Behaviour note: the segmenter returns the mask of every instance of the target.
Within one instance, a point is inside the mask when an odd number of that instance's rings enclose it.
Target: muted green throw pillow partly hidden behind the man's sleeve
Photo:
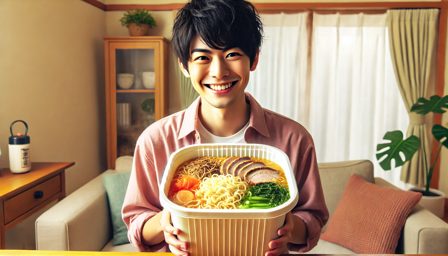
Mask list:
[[[113,226],[113,245],[129,243],[128,228],[121,218],[121,207],[125,202],[126,189],[128,188],[131,173],[105,174],[103,184],[109,199]]]

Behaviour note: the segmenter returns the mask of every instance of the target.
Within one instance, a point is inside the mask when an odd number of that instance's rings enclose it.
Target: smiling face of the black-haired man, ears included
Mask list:
[[[237,101],[246,89],[250,71],[258,63],[258,52],[251,68],[249,56],[240,48],[215,50],[197,35],[191,40],[190,54],[190,73],[181,65],[182,72],[191,78],[199,95],[215,108],[228,108]]]

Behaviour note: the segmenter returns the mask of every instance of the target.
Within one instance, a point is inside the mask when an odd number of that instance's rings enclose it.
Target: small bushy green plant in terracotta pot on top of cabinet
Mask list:
[[[130,36],[149,35],[149,29],[157,26],[154,17],[147,10],[135,9],[123,14],[120,19],[121,26],[129,28]]]

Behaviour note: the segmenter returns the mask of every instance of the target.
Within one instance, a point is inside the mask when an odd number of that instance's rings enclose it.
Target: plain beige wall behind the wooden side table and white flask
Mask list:
[[[0,24],[1,168],[9,125],[22,119],[32,161],[76,162],[66,170],[69,194],[107,166],[105,12],[81,0],[0,0]],[[38,216],[8,230],[6,247],[34,249]]]

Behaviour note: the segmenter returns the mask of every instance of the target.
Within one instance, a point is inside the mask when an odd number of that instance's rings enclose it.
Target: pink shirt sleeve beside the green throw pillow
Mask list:
[[[160,244],[157,247],[142,244],[143,225],[161,211],[155,205],[160,205],[155,166],[138,140],[121,216],[128,227],[129,242],[140,252],[160,249]]]

